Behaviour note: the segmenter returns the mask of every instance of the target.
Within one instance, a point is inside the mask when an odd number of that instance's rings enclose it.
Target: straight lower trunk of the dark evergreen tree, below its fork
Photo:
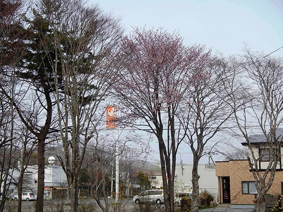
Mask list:
[[[43,139],[38,139],[38,173],[37,173],[37,200],[36,200],[36,212],[43,211],[43,196],[44,196],[44,151],[45,151],[45,144]]]

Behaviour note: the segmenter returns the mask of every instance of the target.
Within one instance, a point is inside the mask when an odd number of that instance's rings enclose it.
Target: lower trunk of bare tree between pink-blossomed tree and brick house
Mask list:
[[[192,184],[193,184],[193,192],[192,192],[192,203],[191,210],[192,212],[199,211],[199,174],[198,174],[198,162],[195,162],[193,165],[192,171]]]

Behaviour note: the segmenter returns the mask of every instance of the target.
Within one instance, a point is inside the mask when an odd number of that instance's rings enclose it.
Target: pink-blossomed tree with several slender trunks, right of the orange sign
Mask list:
[[[161,28],[134,28],[121,46],[125,60],[114,97],[125,107],[126,125],[158,139],[166,211],[174,210],[176,153],[183,139],[175,116],[190,83],[190,68],[202,59],[201,49],[185,47],[178,33]]]

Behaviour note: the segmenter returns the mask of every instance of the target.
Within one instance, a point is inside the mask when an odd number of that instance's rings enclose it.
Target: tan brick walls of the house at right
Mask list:
[[[242,194],[242,181],[255,181],[250,172],[249,162],[228,161],[216,162],[216,176],[218,177],[218,192],[222,197],[222,177],[230,177],[230,199],[231,204],[253,204],[254,194]],[[283,171],[277,171],[273,184],[267,194],[280,194],[281,182],[283,182]],[[221,198],[219,199],[221,202]]]

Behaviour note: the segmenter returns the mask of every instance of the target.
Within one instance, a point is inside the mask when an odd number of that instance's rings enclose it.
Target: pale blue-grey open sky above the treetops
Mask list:
[[[244,43],[256,51],[270,54],[283,46],[283,0],[91,0],[106,13],[121,18],[125,34],[132,27],[179,31],[187,46],[206,45],[224,56],[243,53]],[[273,55],[283,56],[283,48]],[[156,142],[155,142],[156,143]],[[240,142],[239,142],[240,143]],[[240,144],[241,145],[241,144]],[[159,158],[158,146],[148,159]],[[185,164],[192,164],[192,153],[182,145],[177,154]],[[214,161],[221,160],[215,158]],[[206,163],[204,157],[201,163]]]

